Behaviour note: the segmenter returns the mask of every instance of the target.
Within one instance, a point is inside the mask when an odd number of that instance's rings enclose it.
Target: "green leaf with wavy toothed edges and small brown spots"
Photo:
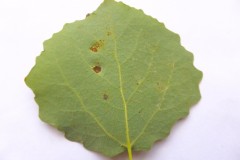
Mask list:
[[[200,99],[202,73],[177,34],[105,0],[44,43],[26,77],[40,118],[67,139],[115,156],[148,150]]]

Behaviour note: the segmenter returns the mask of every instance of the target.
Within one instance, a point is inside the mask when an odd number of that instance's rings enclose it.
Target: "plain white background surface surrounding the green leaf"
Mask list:
[[[38,118],[24,77],[42,42],[101,0],[0,1],[0,160],[109,160]],[[201,101],[135,160],[240,160],[240,1],[124,0],[179,33],[203,71]],[[126,154],[114,158],[125,160]]]

